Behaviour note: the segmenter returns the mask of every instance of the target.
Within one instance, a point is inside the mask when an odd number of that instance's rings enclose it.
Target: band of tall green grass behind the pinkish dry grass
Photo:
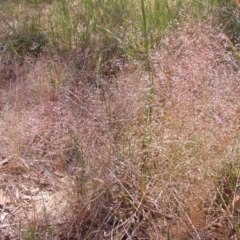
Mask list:
[[[90,50],[95,56],[90,66],[103,77],[114,77],[123,62],[145,57],[140,1],[16,1],[12,6],[13,19],[1,18],[3,48],[19,56],[54,49],[77,58],[76,50]],[[157,46],[165,29],[181,18],[181,9],[181,1],[146,4],[149,47]]]

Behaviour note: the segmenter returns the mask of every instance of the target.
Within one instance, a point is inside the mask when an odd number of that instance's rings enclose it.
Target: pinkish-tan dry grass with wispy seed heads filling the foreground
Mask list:
[[[152,53],[151,123],[142,66],[95,86],[59,56],[2,65],[1,235],[227,239],[216,181],[239,157],[240,76],[219,32],[186,24]]]

